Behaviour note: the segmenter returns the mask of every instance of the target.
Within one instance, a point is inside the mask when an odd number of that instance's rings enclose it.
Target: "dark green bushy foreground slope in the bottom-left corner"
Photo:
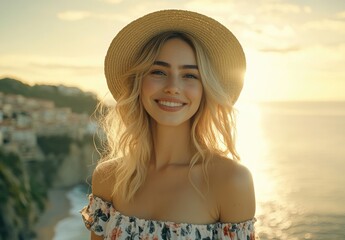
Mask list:
[[[34,233],[34,208],[46,195],[37,193],[19,157],[0,151],[0,239],[28,239]]]

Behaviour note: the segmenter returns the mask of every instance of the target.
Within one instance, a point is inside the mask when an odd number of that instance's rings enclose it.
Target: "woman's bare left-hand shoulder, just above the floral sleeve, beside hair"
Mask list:
[[[114,160],[101,162],[92,174],[92,194],[108,202],[112,200],[116,164]]]

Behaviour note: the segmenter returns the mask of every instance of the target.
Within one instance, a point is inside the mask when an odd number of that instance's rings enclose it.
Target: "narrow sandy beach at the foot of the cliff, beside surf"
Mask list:
[[[71,203],[67,197],[70,190],[70,188],[52,188],[48,190],[46,209],[34,228],[36,240],[53,239],[58,222],[70,216]]]

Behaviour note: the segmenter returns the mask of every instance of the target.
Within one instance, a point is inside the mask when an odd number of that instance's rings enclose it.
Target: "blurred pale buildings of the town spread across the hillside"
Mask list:
[[[0,92],[0,148],[23,160],[43,160],[38,136],[66,135],[82,139],[96,123],[87,114],[56,107],[54,102]]]

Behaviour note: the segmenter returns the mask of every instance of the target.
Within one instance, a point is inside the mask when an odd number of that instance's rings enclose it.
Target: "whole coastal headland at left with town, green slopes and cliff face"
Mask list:
[[[0,240],[34,239],[49,189],[90,182],[96,104],[76,88],[0,79]]]

